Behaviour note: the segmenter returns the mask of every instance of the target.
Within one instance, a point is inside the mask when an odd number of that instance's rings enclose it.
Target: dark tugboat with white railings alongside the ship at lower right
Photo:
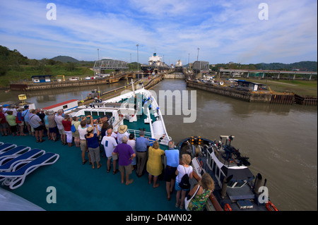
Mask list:
[[[204,173],[213,178],[213,195],[223,210],[278,211],[269,200],[266,179],[263,183],[261,174],[256,177],[252,174],[248,168],[249,158],[242,156],[231,145],[234,138],[232,135],[221,135],[218,142],[201,137],[185,138],[177,148],[180,154],[191,155],[195,178],[200,179]],[[218,210],[211,205],[207,202],[206,209]]]

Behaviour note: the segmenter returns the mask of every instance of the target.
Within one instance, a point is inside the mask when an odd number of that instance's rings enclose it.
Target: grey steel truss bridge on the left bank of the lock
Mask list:
[[[112,60],[112,59],[102,59],[95,61],[93,71],[96,74],[105,74],[106,70],[115,70],[117,73],[119,71],[128,70],[128,63],[120,60]]]

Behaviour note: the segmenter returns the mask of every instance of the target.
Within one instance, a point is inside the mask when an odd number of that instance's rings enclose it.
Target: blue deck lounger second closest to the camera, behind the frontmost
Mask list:
[[[34,149],[23,154],[20,154],[18,157],[11,159],[10,161],[6,162],[5,164],[0,166],[0,171],[11,171],[13,166],[15,166],[18,162],[30,162],[31,160],[35,159],[42,154],[45,154],[45,150]],[[1,176],[0,176],[1,181]]]

